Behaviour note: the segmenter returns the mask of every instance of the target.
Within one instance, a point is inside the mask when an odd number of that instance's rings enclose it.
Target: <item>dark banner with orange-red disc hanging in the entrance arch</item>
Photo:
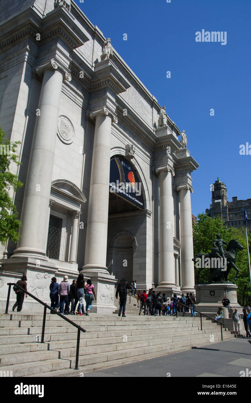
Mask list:
[[[114,157],[110,161],[110,192],[126,199],[140,208],[144,207],[141,182],[131,166],[122,157]]]

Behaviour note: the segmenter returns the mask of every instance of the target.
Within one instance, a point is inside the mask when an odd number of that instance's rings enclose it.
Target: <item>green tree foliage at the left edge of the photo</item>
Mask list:
[[[10,172],[10,164],[14,162],[20,165],[18,156],[15,154],[20,141],[11,142],[5,137],[0,126],[0,243],[4,245],[11,239],[17,242],[20,238],[18,233],[21,222],[17,219],[17,210],[10,197],[10,189],[15,192],[23,183],[17,175]]]

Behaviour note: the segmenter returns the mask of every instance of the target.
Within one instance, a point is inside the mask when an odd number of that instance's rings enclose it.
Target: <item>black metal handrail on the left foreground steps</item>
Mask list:
[[[5,309],[5,314],[8,314],[8,307],[9,307],[9,300],[10,300],[10,287],[12,285],[15,285],[16,287],[18,287],[19,289],[21,289],[21,291],[25,292],[25,294],[29,295],[31,298],[35,299],[35,301],[41,303],[41,305],[44,305],[44,316],[43,316],[43,324],[42,324],[42,334],[41,334],[41,343],[44,343],[44,331],[45,331],[45,322],[46,322],[46,309],[49,309],[50,311],[52,311],[54,314],[60,316],[60,318],[63,318],[64,320],[66,320],[66,322],[70,323],[71,325],[75,326],[78,329],[78,334],[77,334],[77,349],[76,349],[76,361],[75,361],[75,370],[78,370],[78,365],[79,365],[79,342],[80,342],[80,330],[82,332],[86,332],[86,330],[84,328],[82,328],[81,326],[77,325],[77,323],[73,322],[72,320],[66,318],[64,315],[60,314],[59,312],[57,312],[54,308],[50,307],[49,305],[47,305],[47,303],[41,301],[41,299],[35,297],[35,295],[32,295],[31,293],[29,293],[27,290],[25,290],[23,287],[21,287],[21,285],[16,284],[16,283],[7,283],[7,285],[9,286],[8,289],[8,295],[7,295],[7,301],[6,301],[6,309]]]

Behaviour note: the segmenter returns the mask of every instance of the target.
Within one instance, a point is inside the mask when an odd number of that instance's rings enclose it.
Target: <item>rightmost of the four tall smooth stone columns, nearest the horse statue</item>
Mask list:
[[[191,215],[192,188],[178,186],[180,191],[180,243],[181,243],[181,291],[194,291],[193,230]]]

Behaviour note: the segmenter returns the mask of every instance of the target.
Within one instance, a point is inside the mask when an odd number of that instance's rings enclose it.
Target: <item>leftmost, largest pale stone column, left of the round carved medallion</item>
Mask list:
[[[71,76],[55,60],[36,68],[43,75],[25,195],[21,213],[21,235],[13,258],[31,256],[47,260],[45,239],[48,233],[48,209],[56,146],[56,133],[63,77]]]

